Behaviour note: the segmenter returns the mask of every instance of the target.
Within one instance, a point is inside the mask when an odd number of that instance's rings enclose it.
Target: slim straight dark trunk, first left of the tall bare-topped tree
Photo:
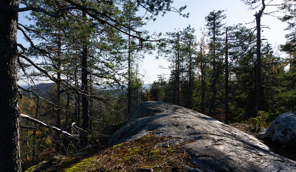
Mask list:
[[[226,27],[226,37],[225,37],[225,123],[228,124],[229,121],[229,71],[228,71],[228,37],[227,37],[228,28]]]

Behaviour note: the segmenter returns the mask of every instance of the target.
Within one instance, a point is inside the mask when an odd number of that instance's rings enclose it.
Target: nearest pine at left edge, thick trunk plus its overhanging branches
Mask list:
[[[0,154],[1,154],[1,163],[0,163],[0,169],[3,171],[21,171],[20,168],[20,149],[19,149],[19,128],[20,128],[20,116],[28,118],[26,115],[22,115],[18,112],[18,103],[17,103],[17,72],[16,72],[16,59],[17,57],[22,57],[25,59],[30,65],[33,65],[36,70],[41,71],[44,73],[46,77],[48,77],[53,82],[60,84],[61,86],[64,86],[67,90],[76,90],[78,92],[81,91],[81,89],[78,89],[77,87],[71,85],[71,83],[67,82],[65,79],[58,79],[55,76],[52,76],[48,71],[44,70],[43,68],[40,68],[38,66],[38,63],[34,63],[28,56],[26,56],[23,53],[19,53],[17,50],[17,46],[20,48],[23,48],[22,45],[16,43],[16,35],[17,35],[17,22],[18,22],[18,12],[24,12],[24,11],[34,11],[34,12],[41,12],[51,17],[62,17],[64,15],[69,14],[68,12],[82,12],[86,13],[88,16],[88,19],[92,21],[96,21],[96,24],[98,26],[101,26],[102,28],[108,28],[111,29],[111,32],[121,32],[123,34],[128,35],[127,32],[125,32],[122,28],[126,28],[124,24],[121,23],[120,17],[117,15],[114,16],[114,11],[105,8],[104,6],[114,6],[114,1],[110,1],[106,3],[105,1],[81,1],[81,2],[74,2],[74,1],[55,1],[56,4],[56,10],[52,11],[49,9],[49,11],[46,11],[47,9],[39,8],[39,6],[42,6],[41,4],[43,1],[33,1],[34,6],[27,6],[25,8],[19,8],[19,1],[16,0],[10,0],[10,1],[4,1],[0,4],[2,10],[0,12],[0,21],[2,24],[2,27],[0,29],[0,40],[1,40],[1,48],[0,48],[0,54],[3,59],[0,62],[1,70],[2,70],[2,81],[5,83],[1,85],[1,112],[0,115],[0,137],[1,137],[1,145],[0,145]],[[140,0],[136,1],[139,6],[142,6],[144,9],[147,9],[152,16],[158,15],[159,13],[166,13],[167,11],[175,11],[181,13],[183,9],[186,7],[181,7],[179,10],[177,9],[171,9],[170,5],[173,3],[170,0]],[[102,6],[101,6],[102,5]],[[101,8],[102,7],[102,8]],[[115,8],[118,11],[118,8]],[[70,15],[70,14],[69,14]],[[184,14],[184,16],[188,16]],[[73,17],[73,16],[72,16]],[[71,18],[72,18],[71,17]],[[116,31],[116,32],[113,32]],[[110,34],[106,33],[106,35]],[[111,34],[110,34],[111,35]],[[141,41],[148,41],[147,39],[144,39],[141,36],[135,36],[131,35],[132,37],[136,37],[140,39]],[[103,37],[102,37],[103,38]],[[114,38],[114,37],[113,37]],[[30,39],[27,40],[30,41]],[[70,42],[70,41],[69,41]],[[117,43],[115,43],[117,44]],[[115,45],[113,44],[113,45]],[[102,44],[101,44],[102,45]],[[110,44],[107,44],[110,45]],[[46,47],[36,47],[33,46],[34,49],[37,49],[38,51],[42,51],[44,53],[49,53],[46,49]],[[116,46],[115,46],[116,47]],[[115,50],[116,51],[116,50]],[[104,63],[107,68],[114,69],[112,66],[112,63]],[[55,68],[58,70],[57,68]],[[99,75],[97,75],[99,76]],[[102,77],[104,78],[104,77]],[[108,77],[107,77],[108,78]],[[112,78],[112,77],[110,77]],[[83,94],[86,94],[83,92]],[[90,96],[90,95],[88,95]],[[3,115],[4,114],[4,115]],[[57,128],[55,128],[58,130]],[[6,132],[6,133],[4,133]],[[65,133],[65,132],[64,132]],[[68,133],[69,134],[69,133]],[[3,137],[5,136],[5,138]],[[5,162],[5,163],[3,163]]]

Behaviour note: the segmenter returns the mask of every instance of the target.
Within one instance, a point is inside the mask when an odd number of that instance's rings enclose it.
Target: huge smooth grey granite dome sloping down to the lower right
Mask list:
[[[174,137],[159,146],[181,147],[197,166],[189,171],[296,171],[296,162],[272,153],[256,138],[201,113],[169,103],[148,101],[137,106],[109,144],[148,133]]]

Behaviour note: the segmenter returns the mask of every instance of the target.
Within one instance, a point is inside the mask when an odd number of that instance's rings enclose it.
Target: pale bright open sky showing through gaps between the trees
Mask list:
[[[276,0],[276,3],[281,2],[282,0]],[[227,18],[224,19],[224,22],[227,26],[242,23],[248,28],[255,27],[255,23],[250,22],[254,21],[255,12],[259,11],[259,9],[249,10],[248,6],[240,0],[175,0],[172,4],[172,6],[176,8],[184,5],[187,5],[187,8],[183,13],[190,13],[188,19],[175,12],[168,12],[164,17],[158,16],[155,22],[149,21],[143,29],[148,30],[150,35],[154,32],[162,32],[165,34],[166,32],[174,32],[175,29],[183,30],[183,28],[186,28],[190,24],[191,27],[195,28],[195,35],[197,40],[199,40],[201,36],[200,28],[205,27],[206,24],[205,17],[213,10],[226,10],[224,14],[226,14]],[[266,6],[264,12],[271,12],[275,9],[276,8],[273,6]],[[27,14],[28,12],[22,12],[19,14],[20,23],[27,22],[24,18]],[[143,15],[143,11],[140,10],[138,15]],[[284,31],[284,29],[287,27],[287,24],[279,21],[277,17],[265,15],[261,18],[261,24],[270,27],[270,29],[264,29],[261,36],[264,36],[264,38],[267,39],[273,46],[277,47],[286,41],[284,35],[286,35],[288,31]],[[20,32],[18,32],[18,35],[20,36],[18,36],[17,41],[23,44],[25,42],[22,39],[23,35]],[[159,65],[162,65],[167,68],[170,63],[162,58],[156,60],[155,55],[156,53],[153,55],[145,55],[144,60],[139,64],[140,73],[145,73],[145,77],[143,78],[144,83],[152,83],[157,80],[157,75],[159,74],[168,78],[168,74],[170,73],[169,70],[159,67]]]

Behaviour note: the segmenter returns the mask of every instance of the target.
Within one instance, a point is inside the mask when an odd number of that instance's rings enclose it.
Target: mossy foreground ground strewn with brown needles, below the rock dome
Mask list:
[[[54,157],[49,154],[50,160],[44,160],[38,165],[28,168],[26,172],[123,172],[149,169],[158,172],[185,172],[184,165],[198,168],[190,163],[191,158],[187,153],[179,150],[182,145],[188,142],[170,148],[157,147],[157,143],[167,139],[146,135],[109,148],[87,150],[89,151],[87,154]]]

